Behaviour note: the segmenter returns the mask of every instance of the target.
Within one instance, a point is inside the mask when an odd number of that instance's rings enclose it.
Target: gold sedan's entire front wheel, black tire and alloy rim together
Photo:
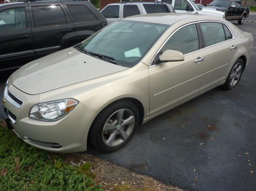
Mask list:
[[[119,116],[123,116],[122,120]],[[124,100],[113,103],[95,118],[89,132],[89,140],[101,152],[116,151],[130,140],[138,123],[139,112],[133,102]]]

